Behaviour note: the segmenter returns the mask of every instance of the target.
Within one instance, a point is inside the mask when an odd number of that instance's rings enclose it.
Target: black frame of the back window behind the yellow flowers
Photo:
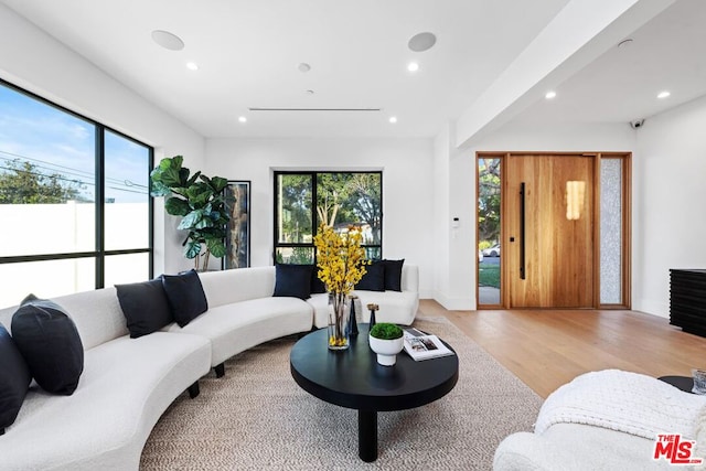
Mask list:
[[[383,217],[383,171],[382,170],[275,170],[274,179],[272,179],[272,263],[277,263],[277,250],[279,248],[296,248],[296,247],[306,247],[311,248],[313,250],[313,264],[317,264],[317,251],[313,244],[313,240],[308,243],[280,243],[279,242],[279,227],[277,225],[277,195],[278,193],[278,181],[280,175],[310,175],[311,176],[311,224],[312,224],[312,235],[317,234],[317,228],[319,227],[319,215],[315,210],[317,205],[317,196],[318,196],[318,175],[324,173],[367,173],[367,174],[378,174],[379,175],[379,245],[374,244],[362,244],[361,246],[366,249],[368,248],[378,248],[379,249],[379,259],[383,259],[383,228],[384,228],[384,217]]]

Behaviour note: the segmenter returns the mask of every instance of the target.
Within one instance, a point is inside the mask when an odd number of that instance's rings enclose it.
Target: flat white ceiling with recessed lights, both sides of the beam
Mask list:
[[[204,137],[434,137],[581,0],[0,1]],[[516,119],[627,122],[702,96],[705,26],[706,1],[677,0],[625,35],[629,47],[611,46]],[[153,30],[185,47],[157,45]],[[424,31],[437,44],[411,52],[407,41]],[[662,89],[672,96],[657,100]]]

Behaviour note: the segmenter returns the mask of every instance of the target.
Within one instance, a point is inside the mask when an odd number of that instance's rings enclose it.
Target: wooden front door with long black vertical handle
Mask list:
[[[513,154],[504,172],[505,304],[593,307],[593,158]]]

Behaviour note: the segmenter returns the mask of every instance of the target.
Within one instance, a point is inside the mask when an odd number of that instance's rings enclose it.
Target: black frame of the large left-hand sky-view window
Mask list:
[[[0,86],[7,87],[13,92],[22,94],[30,99],[38,100],[39,103],[50,106],[58,111],[65,113],[67,115],[73,116],[76,119],[81,119],[92,126],[95,127],[95,188],[96,188],[96,197],[95,197],[95,249],[94,250],[85,250],[85,251],[65,251],[65,253],[46,253],[46,254],[34,254],[34,255],[18,255],[18,256],[0,256],[0,264],[17,264],[17,263],[28,263],[28,261],[50,261],[50,260],[66,260],[66,259],[78,259],[78,258],[95,258],[95,288],[105,288],[105,260],[106,257],[115,256],[115,255],[128,255],[128,254],[148,254],[149,255],[149,274],[148,277],[151,279],[154,276],[154,199],[149,195],[148,196],[148,246],[147,247],[136,247],[136,248],[126,248],[126,249],[110,249],[106,250],[105,248],[105,133],[107,131],[127,139],[131,142],[135,142],[138,146],[145,147],[148,150],[148,162],[147,168],[151,171],[154,168],[154,148],[152,146],[148,146],[145,142],[141,142],[130,136],[125,135],[124,132],[118,131],[117,129],[110,128],[108,126],[103,125],[94,119],[90,119],[86,116],[83,116],[76,111],[73,111],[64,106],[57,105],[56,103],[51,101],[47,98],[44,98],[38,94],[29,92],[18,85],[14,85],[10,82],[7,82],[0,78]],[[151,194],[151,180],[148,179],[149,189],[148,192]]]

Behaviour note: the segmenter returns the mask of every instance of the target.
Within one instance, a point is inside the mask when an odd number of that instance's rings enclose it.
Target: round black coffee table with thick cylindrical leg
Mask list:
[[[359,329],[351,346],[339,352],[328,350],[327,329],[314,331],[295,344],[289,363],[302,389],[357,410],[359,456],[371,462],[377,459],[377,413],[410,409],[445,396],[456,386],[459,361],[452,355],[415,362],[402,352],[395,366],[381,366],[367,342],[368,325]]]

